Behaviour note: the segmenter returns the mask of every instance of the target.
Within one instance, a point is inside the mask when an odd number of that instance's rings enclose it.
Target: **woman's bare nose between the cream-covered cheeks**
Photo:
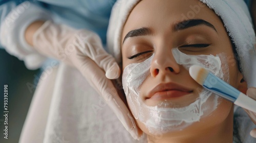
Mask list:
[[[172,50],[170,50],[169,52],[156,52],[151,63],[150,72],[153,77],[169,73],[180,73],[179,64],[177,64],[177,62],[175,61]]]

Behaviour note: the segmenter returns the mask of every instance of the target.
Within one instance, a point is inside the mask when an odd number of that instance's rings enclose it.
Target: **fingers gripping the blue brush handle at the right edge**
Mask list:
[[[248,88],[246,94],[247,94],[248,97],[256,100],[256,88],[254,88],[254,87]],[[256,125],[256,113],[252,112],[252,111],[249,111],[249,110],[246,110],[246,109],[244,109],[244,110],[250,116],[252,122]],[[250,135],[252,137],[256,138],[256,128],[251,130]]]

